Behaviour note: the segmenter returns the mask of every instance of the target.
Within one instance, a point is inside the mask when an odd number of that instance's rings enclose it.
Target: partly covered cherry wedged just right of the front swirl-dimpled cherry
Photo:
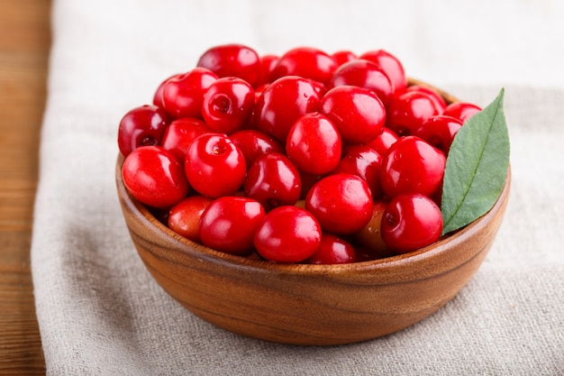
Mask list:
[[[250,167],[260,155],[268,152],[284,152],[284,146],[273,136],[256,131],[254,129],[243,129],[229,135],[232,142],[241,149],[247,168]]]

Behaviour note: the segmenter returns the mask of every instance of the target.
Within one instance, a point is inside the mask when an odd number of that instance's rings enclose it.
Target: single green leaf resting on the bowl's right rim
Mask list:
[[[459,129],[444,171],[442,234],[483,216],[496,203],[509,168],[509,134],[502,88],[496,99]]]

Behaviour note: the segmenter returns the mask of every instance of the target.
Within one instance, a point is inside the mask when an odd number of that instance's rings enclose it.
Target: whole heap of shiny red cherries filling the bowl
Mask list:
[[[374,260],[440,238],[450,143],[478,111],[408,85],[386,50],[221,45],[123,116],[122,177],[170,229],[220,252]]]

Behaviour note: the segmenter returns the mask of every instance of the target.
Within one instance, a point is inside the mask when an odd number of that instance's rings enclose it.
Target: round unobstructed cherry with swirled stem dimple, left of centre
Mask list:
[[[206,197],[231,196],[245,179],[247,166],[239,148],[223,134],[205,133],[186,151],[186,178]]]

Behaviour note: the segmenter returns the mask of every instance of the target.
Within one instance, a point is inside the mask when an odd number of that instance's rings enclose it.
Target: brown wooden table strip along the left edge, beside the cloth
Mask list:
[[[0,0],[0,374],[45,374],[30,244],[50,0]]]

